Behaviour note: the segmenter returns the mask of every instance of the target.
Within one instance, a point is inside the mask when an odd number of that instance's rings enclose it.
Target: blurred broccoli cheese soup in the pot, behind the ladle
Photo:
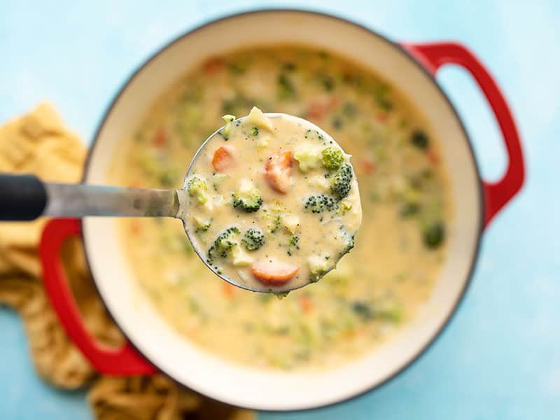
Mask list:
[[[218,279],[181,221],[131,218],[118,222],[130,269],[161,316],[211,353],[280,370],[348,363],[414,319],[435,286],[453,216],[439,139],[405,97],[358,64],[295,46],[252,48],[209,59],[164,92],[123,139],[113,183],[181,188],[222,116],[253,106],[309,120],[352,155],[363,213],[353,250],[279,300]],[[290,227],[278,229],[287,253]]]

